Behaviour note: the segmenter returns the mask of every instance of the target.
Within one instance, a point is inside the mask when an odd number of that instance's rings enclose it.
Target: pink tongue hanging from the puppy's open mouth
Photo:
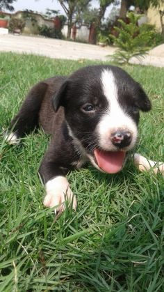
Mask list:
[[[94,154],[99,167],[108,174],[115,174],[122,169],[126,153],[122,151],[102,151],[95,149]]]

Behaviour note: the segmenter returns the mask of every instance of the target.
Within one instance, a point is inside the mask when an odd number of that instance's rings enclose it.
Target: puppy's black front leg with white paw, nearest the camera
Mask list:
[[[56,135],[39,169],[46,190],[44,206],[56,207],[56,211],[60,212],[65,210],[65,201],[67,201],[68,205],[76,210],[76,197],[65,176],[74,168],[72,164],[77,160],[79,160],[79,155],[75,153],[72,144],[61,135]]]

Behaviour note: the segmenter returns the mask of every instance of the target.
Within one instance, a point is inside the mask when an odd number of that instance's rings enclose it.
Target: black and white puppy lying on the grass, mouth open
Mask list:
[[[142,87],[124,70],[88,66],[33,86],[6,139],[15,144],[39,125],[51,134],[39,170],[46,188],[44,205],[64,210],[68,199],[75,209],[76,197],[65,175],[88,161],[108,174],[120,171],[137,141],[139,110],[150,109]],[[138,154],[134,160],[140,170],[156,164]]]

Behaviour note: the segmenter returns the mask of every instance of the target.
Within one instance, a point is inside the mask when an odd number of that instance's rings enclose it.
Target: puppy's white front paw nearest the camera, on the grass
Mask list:
[[[64,176],[56,176],[46,183],[46,197],[44,198],[44,206],[53,208],[56,206],[56,212],[65,210],[65,201],[68,201],[69,206],[76,210],[76,197],[69,187],[67,178]]]

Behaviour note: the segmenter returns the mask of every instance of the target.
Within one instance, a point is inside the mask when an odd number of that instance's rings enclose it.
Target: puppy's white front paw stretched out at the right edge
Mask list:
[[[135,153],[133,155],[133,162],[140,171],[149,171],[152,169],[154,174],[161,172],[164,176],[164,163],[148,160],[144,156]]]

